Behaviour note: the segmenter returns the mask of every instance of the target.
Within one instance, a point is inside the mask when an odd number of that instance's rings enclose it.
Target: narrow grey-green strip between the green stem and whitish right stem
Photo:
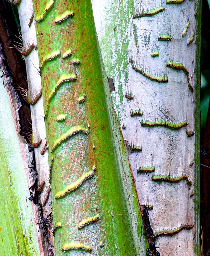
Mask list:
[[[139,207],[139,198],[137,197],[135,182],[133,182],[133,174],[131,171],[130,162],[128,160],[128,152],[125,149],[122,134],[119,130],[119,123],[114,113],[114,106],[110,94],[108,80],[106,79],[106,72],[103,66],[103,61],[100,53],[100,60],[102,63],[102,73],[104,80],[104,90],[106,95],[106,103],[109,114],[110,127],[112,130],[112,139],[115,145],[115,159],[120,172],[118,173],[121,181],[120,188],[124,189],[121,193],[125,194],[125,207],[128,208],[131,227],[133,231],[133,240],[136,245],[137,255],[145,255],[148,248],[148,239],[144,236],[144,227],[142,225],[142,215]],[[132,196],[131,196],[132,195]],[[127,206],[126,206],[127,204]]]

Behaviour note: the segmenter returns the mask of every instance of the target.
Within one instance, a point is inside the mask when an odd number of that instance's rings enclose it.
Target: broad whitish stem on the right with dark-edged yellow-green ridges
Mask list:
[[[150,209],[158,251],[199,255],[201,12],[198,1],[177,2],[92,1],[138,197]]]

